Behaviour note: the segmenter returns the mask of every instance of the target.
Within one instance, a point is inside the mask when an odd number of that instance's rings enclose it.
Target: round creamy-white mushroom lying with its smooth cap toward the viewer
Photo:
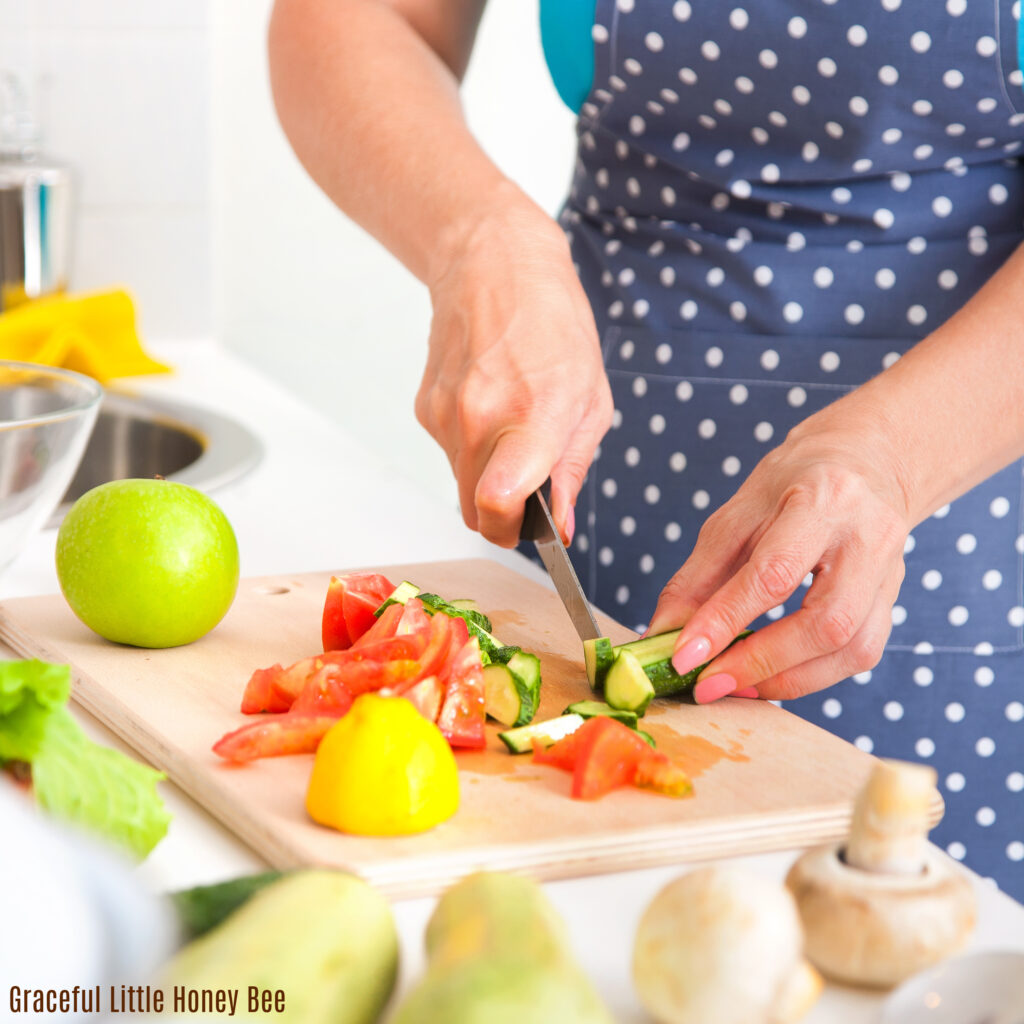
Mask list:
[[[788,1024],[821,992],[791,895],[731,866],[690,871],[637,928],[633,979],[660,1024]]]

